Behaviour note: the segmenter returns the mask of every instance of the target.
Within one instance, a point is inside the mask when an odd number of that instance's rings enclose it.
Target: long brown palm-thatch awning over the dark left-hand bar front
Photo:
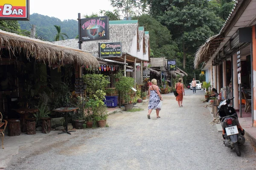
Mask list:
[[[13,54],[24,51],[27,59],[35,57],[36,60],[48,63],[49,66],[55,63],[61,65],[78,63],[97,68],[99,65],[96,57],[85,51],[0,30],[0,50],[3,47]]]

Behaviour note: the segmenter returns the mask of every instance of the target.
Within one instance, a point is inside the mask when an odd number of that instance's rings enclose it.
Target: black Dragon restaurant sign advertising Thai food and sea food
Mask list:
[[[99,57],[122,57],[121,42],[99,43]]]

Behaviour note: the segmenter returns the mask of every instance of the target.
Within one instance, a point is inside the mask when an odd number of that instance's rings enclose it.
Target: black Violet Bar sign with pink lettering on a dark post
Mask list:
[[[81,41],[109,40],[108,17],[84,18],[81,25]]]

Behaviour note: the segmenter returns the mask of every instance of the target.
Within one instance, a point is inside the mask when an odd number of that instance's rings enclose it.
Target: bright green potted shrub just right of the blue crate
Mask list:
[[[118,82],[116,82],[116,89],[120,93],[120,97],[125,100],[125,110],[130,109],[133,105],[129,105],[131,102],[131,88],[134,86],[134,79],[131,77],[121,77]]]

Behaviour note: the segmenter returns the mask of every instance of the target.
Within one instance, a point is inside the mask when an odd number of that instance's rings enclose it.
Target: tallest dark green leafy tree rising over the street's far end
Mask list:
[[[151,1],[152,4],[159,2]],[[152,4],[151,14],[167,26],[180,51],[183,52],[183,68],[186,68],[186,54],[194,54],[196,49],[207,38],[217,34],[222,26],[221,18],[213,11],[209,11],[207,0],[164,0],[159,5],[158,13],[157,6]]]

